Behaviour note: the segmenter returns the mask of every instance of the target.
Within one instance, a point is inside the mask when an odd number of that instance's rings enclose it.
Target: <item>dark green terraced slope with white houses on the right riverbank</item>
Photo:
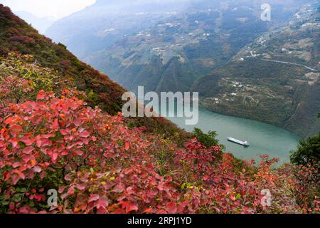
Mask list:
[[[319,82],[309,85],[302,79],[306,74],[296,66],[250,59],[202,78],[193,90],[207,89],[201,94],[201,105],[208,110],[270,123],[306,138],[320,130],[320,86]]]

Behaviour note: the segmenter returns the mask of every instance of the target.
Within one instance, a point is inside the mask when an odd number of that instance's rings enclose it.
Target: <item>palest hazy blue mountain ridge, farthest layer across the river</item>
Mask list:
[[[184,7],[175,1],[98,0],[55,22],[46,36],[64,43],[79,58],[108,48],[126,34],[148,28]]]

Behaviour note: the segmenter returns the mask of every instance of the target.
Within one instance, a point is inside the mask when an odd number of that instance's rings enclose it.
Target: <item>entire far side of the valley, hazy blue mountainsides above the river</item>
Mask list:
[[[261,3],[128,9],[127,1],[109,8],[98,1],[47,33],[128,90],[199,92],[208,110],[306,138],[320,129],[319,4],[272,1],[272,20],[262,21]],[[78,33],[70,30],[74,23]]]

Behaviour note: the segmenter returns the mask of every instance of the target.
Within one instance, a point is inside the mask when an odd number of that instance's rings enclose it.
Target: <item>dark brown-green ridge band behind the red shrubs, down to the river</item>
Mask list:
[[[11,51],[31,54],[35,63],[55,69],[68,79],[69,86],[85,92],[86,101],[92,107],[98,105],[111,115],[122,110],[124,88],[79,61],[63,44],[55,44],[49,38],[39,35],[34,28],[1,4],[0,28],[0,56],[6,56]],[[183,138],[187,135],[164,118],[136,118],[128,121],[131,125],[144,125],[151,131],[168,136],[179,133]]]

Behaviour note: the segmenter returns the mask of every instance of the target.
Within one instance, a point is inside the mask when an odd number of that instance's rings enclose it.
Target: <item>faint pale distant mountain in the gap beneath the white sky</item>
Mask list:
[[[28,24],[31,24],[31,26],[36,28],[41,34],[44,34],[47,28],[49,28],[55,21],[55,19],[52,18],[34,16],[26,11],[16,11],[14,14],[19,16]]]

